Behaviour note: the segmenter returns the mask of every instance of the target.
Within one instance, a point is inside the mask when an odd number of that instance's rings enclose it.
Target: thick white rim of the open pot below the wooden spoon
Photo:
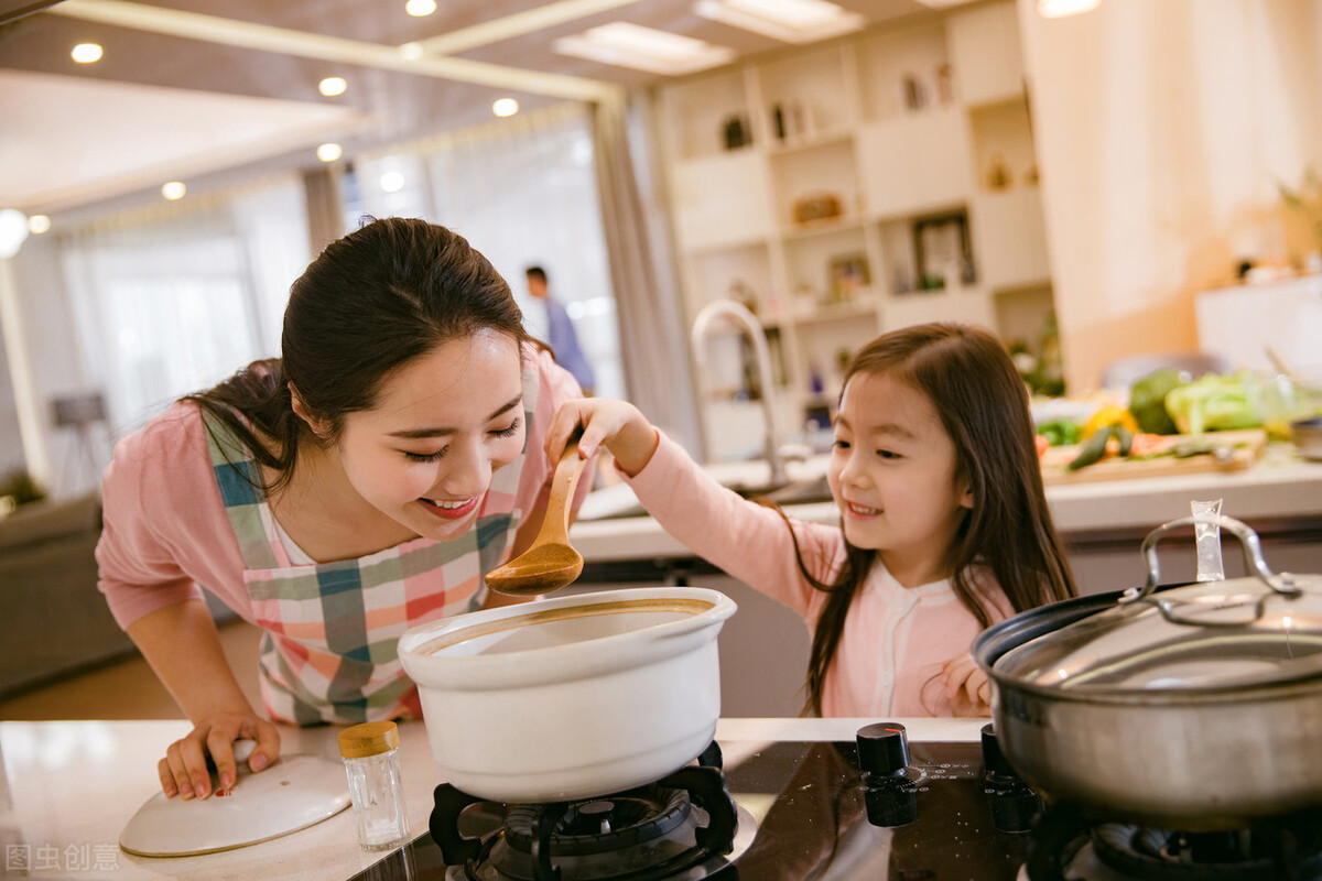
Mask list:
[[[596,605],[620,606],[636,602],[642,606],[639,612],[648,612],[649,609],[645,606],[660,600],[698,602],[707,608],[690,612],[673,621],[568,645],[476,655],[427,654],[423,651],[426,646],[444,639],[447,634],[471,627],[483,629],[481,633],[469,637],[477,638],[500,630],[498,625],[502,621],[542,616],[557,609]],[[484,609],[419,625],[399,638],[398,654],[405,671],[420,688],[469,691],[493,687],[525,687],[550,682],[563,683],[656,663],[662,658],[695,647],[695,639],[715,639],[720,625],[735,613],[735,609],[734,600],[709,588],[658,586],[599,590],[538,600],[531,604]],[[665,609],[654,610],[664,612]],[[683,609],[678,610],[683,612]],[[629,612],[623,613],[629,614]],[[488,630],[484,625],[493,625],[496,629]]]

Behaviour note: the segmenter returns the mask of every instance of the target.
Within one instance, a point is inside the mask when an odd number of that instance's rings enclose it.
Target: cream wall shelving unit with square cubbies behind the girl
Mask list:
[[[1013,1],[698,75],[660,108],[686,316],[722,297],[759,316],[783,431],[884,330],[944,318],[1038,342],[1051,269]],[[806,219],[814,199],[830,207]],[[756,454],[742,343],[707,346],[709,458]]]

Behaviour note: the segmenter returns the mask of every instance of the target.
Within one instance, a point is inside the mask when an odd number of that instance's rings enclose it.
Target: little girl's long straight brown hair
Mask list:
[[[973,564],[992,571],[1015,612],[1075,596],[1069,563],[1042,489],[1029,392],[1005,346],[986,330],[968,325],[914,325],[861,349],[845,371],[841,398],[857,374],[886,374],[927,395],[954,441],[956,479],[970,487],[973,509],[945,563],[956,596],[978,623],[989,626],[992,614],[973,582]],[[846,540],[845,564],[826,582],[808,571],[797,536],[795,548],[804,577],[828,593],[808,660],[806,709],[821,715],[845,616],[876,551]]]

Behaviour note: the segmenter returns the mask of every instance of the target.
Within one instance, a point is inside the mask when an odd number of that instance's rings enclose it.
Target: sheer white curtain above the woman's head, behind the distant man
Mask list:
[[[358,207],[375,217],[427,217],[467,238],[509,283],[525,326],[545,339],[545,306],[524,271],[546,269],[574,322],[595,391],[624,398],[615,291],[586,107],[561,104],[360,159]],[[354,199],[345,202],[353,207]]]

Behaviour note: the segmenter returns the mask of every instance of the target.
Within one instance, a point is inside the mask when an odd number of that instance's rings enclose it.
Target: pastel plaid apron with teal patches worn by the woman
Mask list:
[[[537,371],[524,371],[524,419],[537,409]],[[514,507],[524,452],[492,478],[477,524],[449,542],[418,538],[357,560],[290,561],[260,466],[223,424],[206,419],[215,482],[243,553],[253,623],[262,627],[262,699],[299,725],[420,719],[418,689],[395,651],[401,634],[471,612],[483,575],[505,561],[524,511]]]

